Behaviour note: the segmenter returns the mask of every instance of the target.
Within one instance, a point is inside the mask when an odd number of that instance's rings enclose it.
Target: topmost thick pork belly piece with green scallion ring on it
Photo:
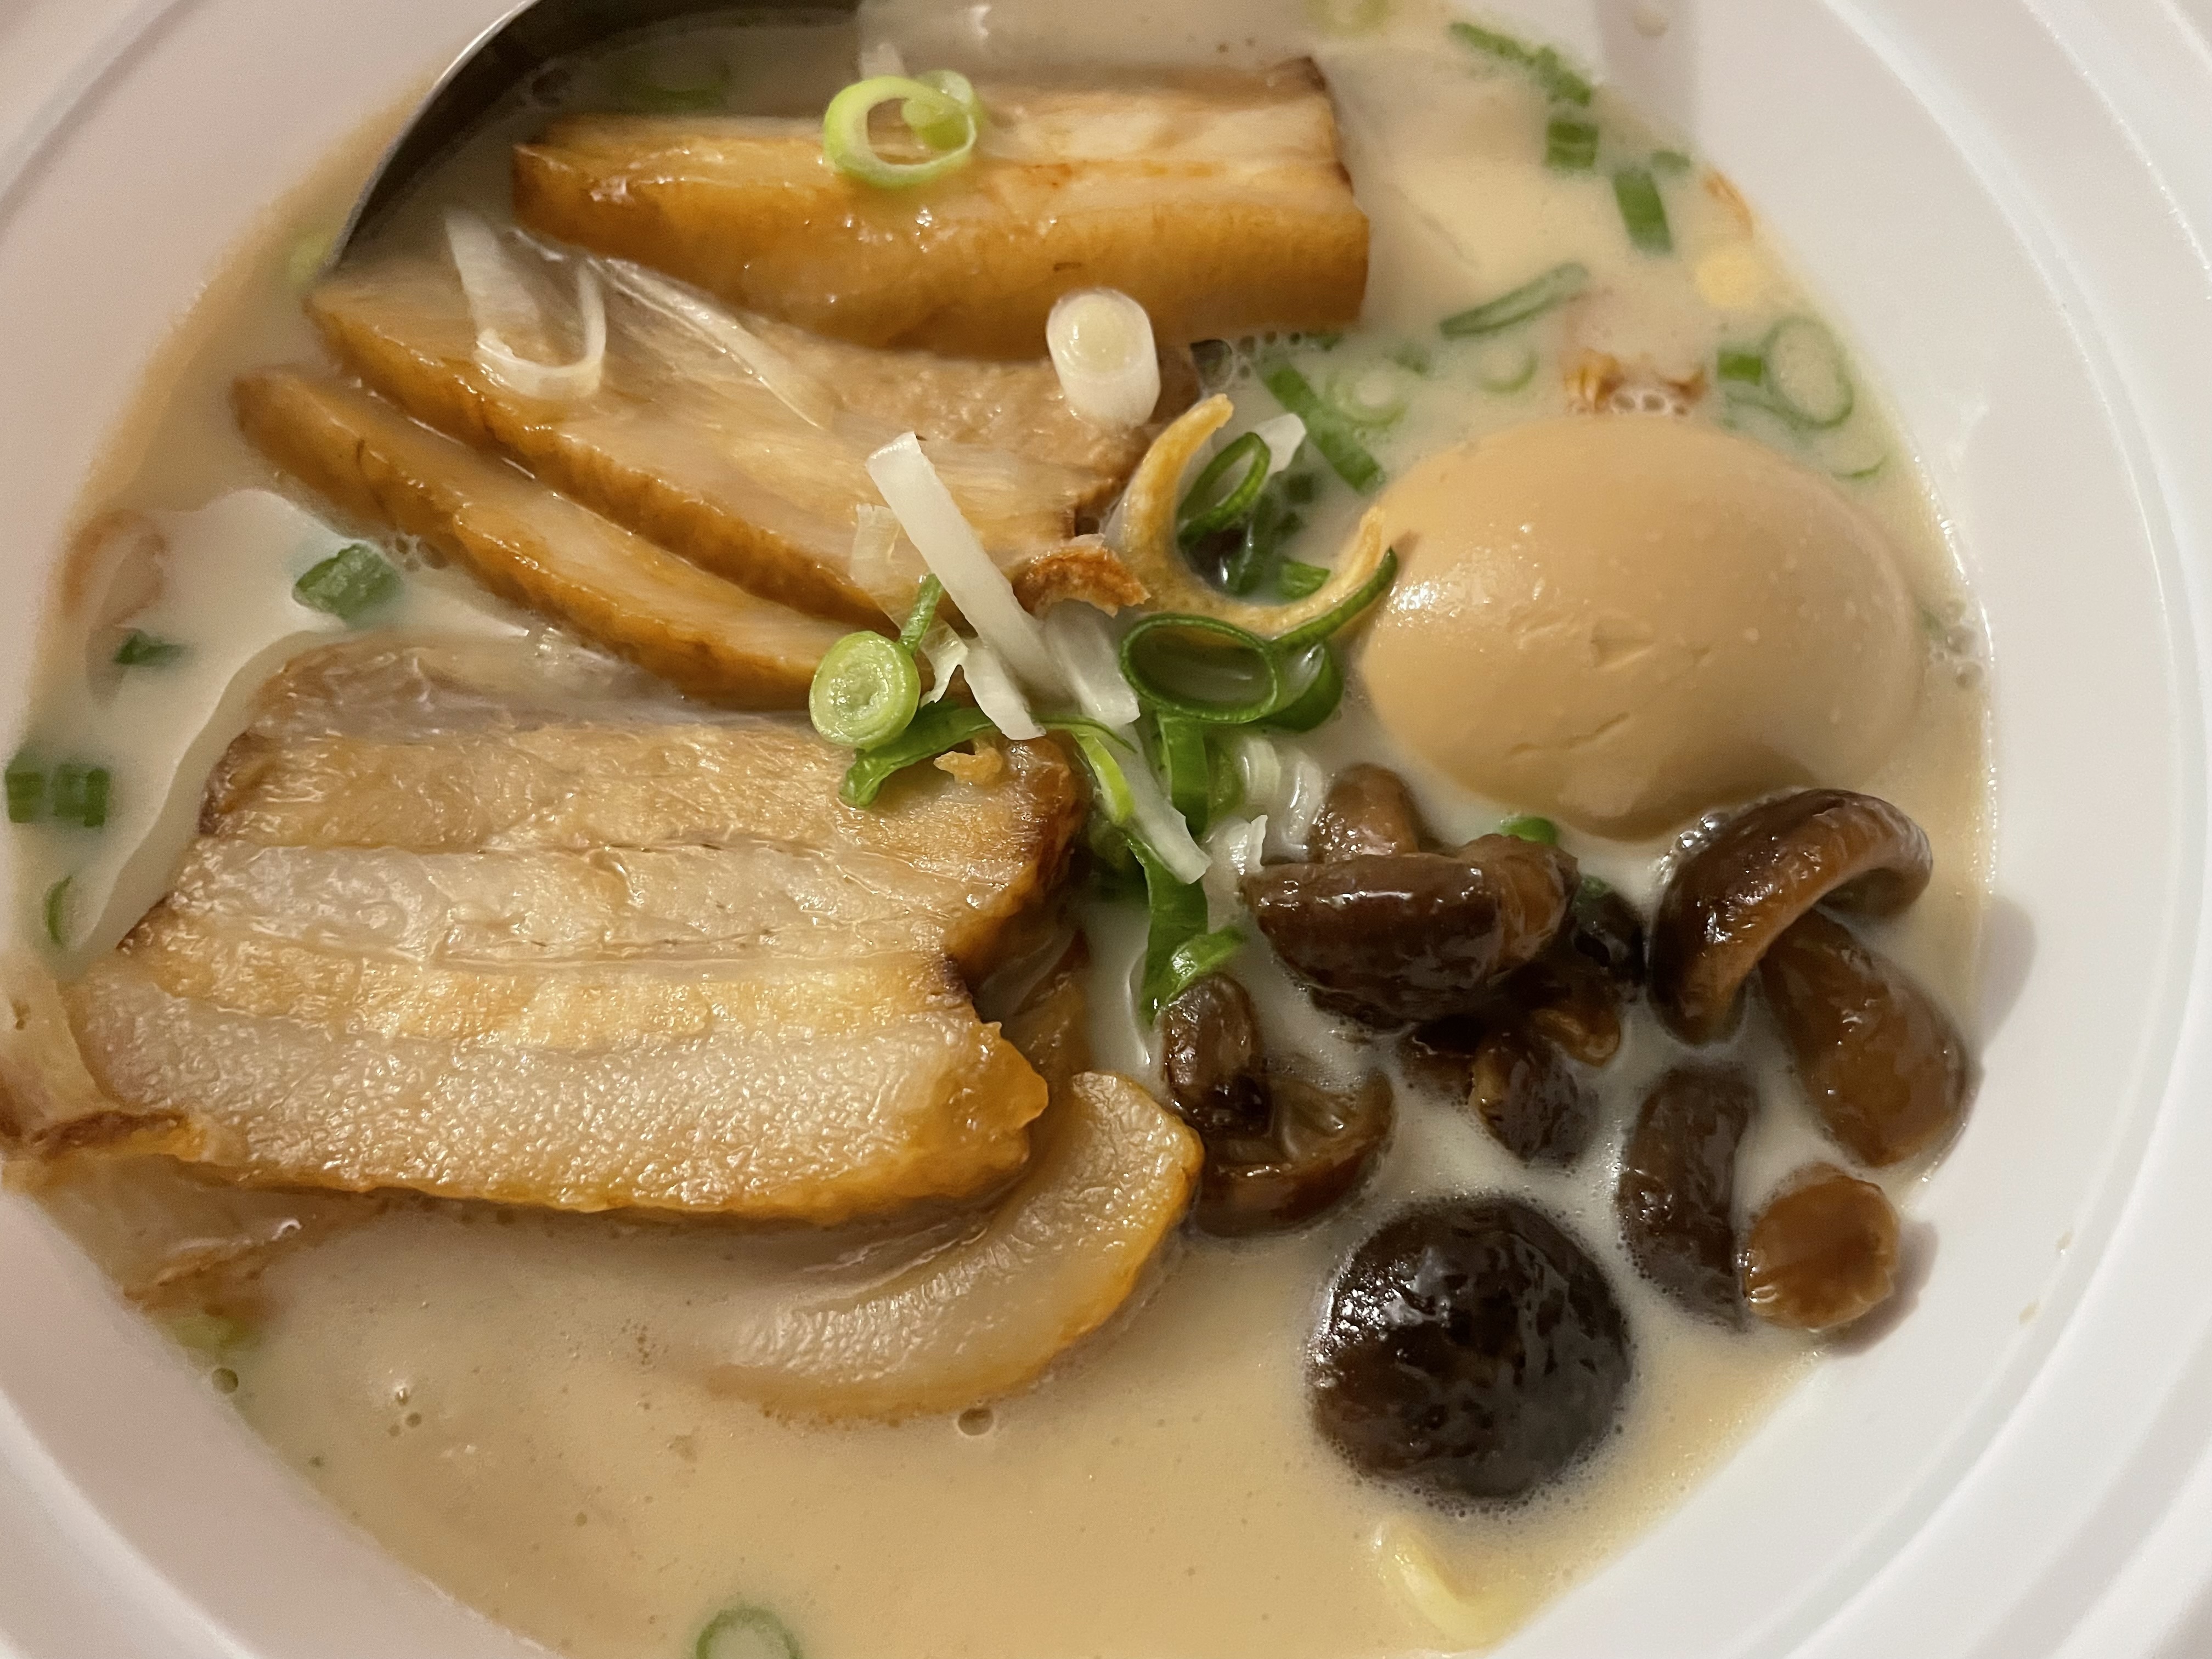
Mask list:
[[[515,217],[860,345],[1031,358],[1077,288],[1170,345],[1358,316],[1367,219],[1310,62],[978,91],[975,159],[918,190],[832,168],[818,122],[566,117],[515,150]]]

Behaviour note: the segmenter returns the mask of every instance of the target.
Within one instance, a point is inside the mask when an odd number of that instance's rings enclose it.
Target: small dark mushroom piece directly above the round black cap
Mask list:
[[[1467,1102],[1522,1164],[1573,1164],[1597,1133],[1595,1095],[1531,1020],[1433,1020],[1398,1053],[1409,1079]]]

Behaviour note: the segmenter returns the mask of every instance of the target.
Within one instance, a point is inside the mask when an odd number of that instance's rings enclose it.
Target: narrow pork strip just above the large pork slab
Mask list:
[[[248,374],[237,411],[270,460],[343,511],[420,535],[495,593],[699,697],[801,708],[841,637],[338,380]]]

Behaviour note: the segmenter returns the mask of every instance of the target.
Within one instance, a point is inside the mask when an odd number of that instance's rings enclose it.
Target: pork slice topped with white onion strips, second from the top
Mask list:
[[[1044,361],[872,352],[743,319],[812,394],[794,407],[635,285],[606,281],[604,292],[602,385],[564,403],[522,396],[478,365],[449,259],[347,270],[314,292],[310,314],[338,361],[416,420],[504,449],[714,575],[847,622],[883,617],[883,593],[852,568],[854,524],[858,507],[883,504],[867,456],[898,434],[925,438],[1006,568],[1053,553],[1077,515],[1104,511],[1148,436],[1079,420]],[[920,571],[911,551],[905,562]]]

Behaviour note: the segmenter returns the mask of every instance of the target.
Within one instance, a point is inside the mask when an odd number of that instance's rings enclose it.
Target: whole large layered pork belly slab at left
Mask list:
[[[296,666],[173,896],[60,993],[11,982],[9,1150],[814,1223],[1015,1175],[1046,1084],[956,958],[987,967],[1057,880],[1060,754],[858,812],[799,723],[584,723],[507,695],[518,659]]]

